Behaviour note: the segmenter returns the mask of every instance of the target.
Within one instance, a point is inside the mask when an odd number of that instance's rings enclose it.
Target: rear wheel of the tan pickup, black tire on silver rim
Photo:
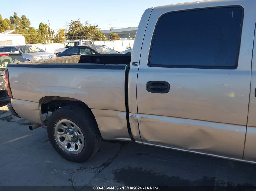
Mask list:
[[[65,123],[62,123],[63,121]],[[69,123],[70,121],[72,123]],[[67,127],[65,127],[64,124]],[[69,129],[71,129],[69,128],[70,125],[73,125],[71,128],[77,133],[78,138],[76,142],[72,142],[74,140],[69,140],[71,136],[67,136],[70,132]],[[58,129],[58,127],[60,128]],[[62,129],[64,130],[63,136],[59,135],[59,133],[63,133]],[[72,135],[75,134],[74,131],[71,131],[73,133]],[[99,150],[102,141],[97,122],[91,113],[91,110],[75,105],[64,106],[53,112],[48,120],[47,132],[55,151],[57,151],[63,158],[73,162],[87,161]],[[81,135],[81,139],[84,138],[83,141],[79,139]],[[61,138],[57,138],[58,136],[62,136],[62,140],[64,137],[63,143],[61,143]],[[79,147],[77,144],[78,141],[79,145],[80,143],[83,143],[83,145]],[[71,144],[70,148],[68,148],[67,145],[69,143]],[[78,148],[76,151],[75,146]],[[72,150],[72,148],[74,149]]]

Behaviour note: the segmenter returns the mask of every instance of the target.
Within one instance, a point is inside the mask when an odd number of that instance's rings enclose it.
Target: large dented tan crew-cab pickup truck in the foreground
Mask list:
[[[88,160],[103,138],[256,163],[255,9],[254,0],[149,8],[132,54],[8,64],[9,110],[31,129],[47,125],[70,161]]]

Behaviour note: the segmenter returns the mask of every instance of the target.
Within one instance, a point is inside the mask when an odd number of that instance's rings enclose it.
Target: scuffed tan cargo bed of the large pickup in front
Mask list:
[[[91,108],[104,139],[131,140],[125,93],[131,55],[67,57],[8,64],[14,110],[42,124],[45,100],[79,100]]]

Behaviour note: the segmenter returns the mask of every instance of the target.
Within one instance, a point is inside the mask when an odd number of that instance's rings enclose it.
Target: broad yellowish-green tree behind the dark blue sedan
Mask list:
[[[89,39],[101,40],[104,34],[98,28],[98,25],[91,25],[88,21],[82,24],[80,20],[73,21],[68,24],[68,31],[66,33],[69,39]]]

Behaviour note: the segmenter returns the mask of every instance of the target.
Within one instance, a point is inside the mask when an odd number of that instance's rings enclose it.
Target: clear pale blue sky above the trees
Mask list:
[[[0,14],[2,18],[10,18],[14,12],[21,17],[23,14],[29,18],[31,26],[38,28],[39,23],[51,24],[57,31],[67,28],[71,20],[84,23],[89,21],[97,24],[101,30],[109,29],[109,20],[112,28],[138,27],[143,12],[150,7],[168,5],[195,0],[80,0],[80,1],[52,1],[52,0],[13,0],[1,1]]]

